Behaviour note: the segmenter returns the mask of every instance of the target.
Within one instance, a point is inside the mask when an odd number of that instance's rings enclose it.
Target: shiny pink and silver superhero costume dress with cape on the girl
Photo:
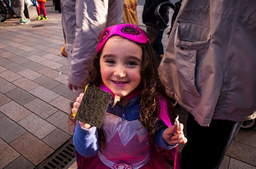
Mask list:
[[[100,85],[99,88],[112,93],[105,85]],[[166,113],[168,111],[166,102],[161,96],[158,97],[158,101],[161,107],[160,118],[169,127],[172,124]],[[106,137],[105,148],[99,148],[97,154],[90,158],[85,158],[76,152],[78,169],[168,169],[169,166],[164,158],[171,158],[174,160],[174,168],[180,168],[179,162],[176,163],[178,146],[170,150],[150,146],[148,131],[138,120],[127,121],[106,112],[101,130]]]

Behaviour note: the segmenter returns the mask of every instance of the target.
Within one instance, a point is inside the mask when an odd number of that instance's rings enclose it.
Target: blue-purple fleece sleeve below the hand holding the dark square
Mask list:
[[[76,122],[73,136],[73,144],[76,151],[86,158],[93,157],[99,150],[98,130],[96,127],[84,129]]]

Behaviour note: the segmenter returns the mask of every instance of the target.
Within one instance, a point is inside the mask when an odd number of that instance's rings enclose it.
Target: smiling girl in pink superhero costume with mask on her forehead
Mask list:
[[[78,168],[169,168],[156,146],[169,150],[187,139],[182,124],[173,134],[172,104],[159,80],[147,35],[132,24],[108,27],[100,35],[96,53],[87,81],[121,99],[113,108],[112,99],[100,130],[76,122],[73,144],[82,155],[76,154]],[[76,99],[72,113],[83,95]]]

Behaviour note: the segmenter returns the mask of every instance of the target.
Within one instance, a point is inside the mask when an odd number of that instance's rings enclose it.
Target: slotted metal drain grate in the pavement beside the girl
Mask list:
[[[75,158],[75,147],[71,139],[59,151],[47,159],[38,169],[64,168]]]

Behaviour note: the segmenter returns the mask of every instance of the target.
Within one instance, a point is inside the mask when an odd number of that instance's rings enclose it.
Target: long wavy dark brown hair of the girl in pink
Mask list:
[[[150,42],[138,45],[142,48],[141,81],[137,87],[140,95],[140,116],[138,120],[148,130],[148,143],[154,144],[160,112],[157,95],[161,95],[166,100],[172,124],[174,123],[174,108],[170,102],[171,98],[166,95],[165,87],[160,81],[157,71],[158,61]],[[100,55],[101,52],[94,57],[92,67],[90,68],[89,75],[86,79],[89,84],[95,86],[99,86],[100,83],[102,83],[100,73]],[[72,118],[72,120],[74,119]],[[98,133],[100,146],[104,148],[104,133],[102,130],[98,130]]]

